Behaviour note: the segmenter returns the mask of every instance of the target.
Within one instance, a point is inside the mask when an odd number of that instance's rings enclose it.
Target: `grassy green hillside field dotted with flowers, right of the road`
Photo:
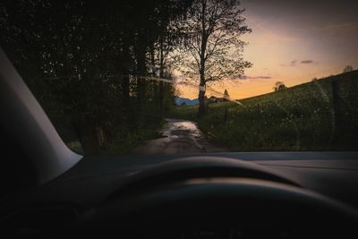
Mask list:
[[[171,117],[235,151],[358,149],[358,71],[240,102],[209,104],[201,118],[197,107],[176,107]]]

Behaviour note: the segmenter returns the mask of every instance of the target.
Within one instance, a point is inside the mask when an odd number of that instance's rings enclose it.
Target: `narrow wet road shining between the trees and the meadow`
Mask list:
[[[162,138],[145,141],[133,149],[140,154],[175,154],[226,151],[207,140],[196,123],[186,120],[166,119],[160,131]]]

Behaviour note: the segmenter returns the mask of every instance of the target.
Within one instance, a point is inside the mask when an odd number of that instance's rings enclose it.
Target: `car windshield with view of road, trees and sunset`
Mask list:
[[[81,154],[358,150],[358,4],[0,3],[0,46]]]

